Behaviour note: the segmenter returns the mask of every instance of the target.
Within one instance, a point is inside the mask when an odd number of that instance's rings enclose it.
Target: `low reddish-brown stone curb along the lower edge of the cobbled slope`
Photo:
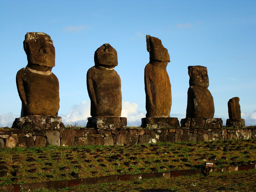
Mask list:
[[[229,167],[219,167],[213,168],[212,172],[233,172],[256,169],[256,164],[240,165],[240,166],[229,166]],[[202,173],[202,169],[184,169],[179,171],[167,171],[167,172],[156,172],[156,173],[138,173],[133,175],[111,175],[104,177],[91,177],[84,179],[69,179],[69,180],[59,180],[59,181],[49,181],[43,183],[27,183],[21,185],[4,185],[0,186],[0,191],[4,192],[19,192],[21,189],[25,191],[30,191],[31,189],[61,189],[66,187],[83,185],[93,185],[99,183],[114,183],[117,181],[135,181],[141,179],[154,179],[154,178],[170,178],[179,176],[192,176]]]

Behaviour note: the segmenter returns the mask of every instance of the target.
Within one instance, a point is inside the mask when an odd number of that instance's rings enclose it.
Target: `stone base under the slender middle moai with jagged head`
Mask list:
[[[179,128],[179,120],[175,117],[146,117],[141,119],[141,127],[148,128]]]

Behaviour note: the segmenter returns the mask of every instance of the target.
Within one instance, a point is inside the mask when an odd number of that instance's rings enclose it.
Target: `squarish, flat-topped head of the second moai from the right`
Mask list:
[[[197,85],[200,87],[209,87],[209,78],[207,68],[204,66],[188,66],[189,86]]]

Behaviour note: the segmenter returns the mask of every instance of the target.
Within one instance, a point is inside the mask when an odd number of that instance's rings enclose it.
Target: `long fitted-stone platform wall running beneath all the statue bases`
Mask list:
[[[256,128],[244,129],[65,129],[0,130],[0,148],[125,145],[156,142],[256,139]]]

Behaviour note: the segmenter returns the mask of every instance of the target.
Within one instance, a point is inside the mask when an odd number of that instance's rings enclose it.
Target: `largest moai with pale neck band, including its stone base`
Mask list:
[[[55,48],[45,33],[27,33],[23,42],[28,64],[16,75],[16,84],[22,101],[21,118],[13,126],[31,129],[63,127],[59,110],[59,81],[51,72],[55,66]],[[22,124],[22,125],[21,125]]]

